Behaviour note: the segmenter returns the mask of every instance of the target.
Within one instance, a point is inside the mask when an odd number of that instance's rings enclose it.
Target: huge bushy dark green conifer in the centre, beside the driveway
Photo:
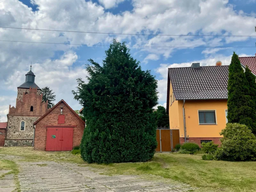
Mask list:
[[[116,39],[103,66],[87,65],[88,83],[77,79],[75,99],[84,107],[81,156],[88,163],[145,162],[154,156],[157,81],[142,71],[125,43]]]

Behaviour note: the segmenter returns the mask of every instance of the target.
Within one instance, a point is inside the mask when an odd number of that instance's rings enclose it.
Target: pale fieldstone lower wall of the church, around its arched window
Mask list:
[[[33,139],[34,128],[33,124],[39,116],[12,116],[8,115],[7,122],[7,140],[27,140]],[[20,122],[25,121],[25,130],[20,131]],[[10,128],[9,128],[10,127]]]

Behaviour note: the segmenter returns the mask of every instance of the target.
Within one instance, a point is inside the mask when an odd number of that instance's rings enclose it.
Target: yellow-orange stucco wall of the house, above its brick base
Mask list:
[[[172,85],[170,87],[170,95]],[[170,102],[171,103],[171,102]],[[180,137],[184,137],[183,100],[174,100],[169,107],[171,129],[180,129]],[[226,127],[227,100],[186,100],[185,101],[187,136],[192,137],[222,137],[220,132]],[[216,123],[199,125],[198,110],[216,110]]]

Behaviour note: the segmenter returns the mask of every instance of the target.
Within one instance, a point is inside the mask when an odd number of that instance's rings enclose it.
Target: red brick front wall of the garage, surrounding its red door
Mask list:
[[[58,124],[58,116],[60,115],[60,107],[63,107],[63,115],[65,115],[65,123]],[[52,111],[44,116],[39,122],[37,122],[35,128],[35,150],[45,150],[46,148],[46,136],[47,125],[56,126],[74,126],[73,131],[73,147],[80,145],[83,133],[84,123],[71,111],[64,102],[57,105]]]

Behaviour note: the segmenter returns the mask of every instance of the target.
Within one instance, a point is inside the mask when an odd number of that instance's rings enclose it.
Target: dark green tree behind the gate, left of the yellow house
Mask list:
[[[163,106],[158,106],[154,111],[157,127],[169,127],[169,116],[166,114],[166,110]]]

